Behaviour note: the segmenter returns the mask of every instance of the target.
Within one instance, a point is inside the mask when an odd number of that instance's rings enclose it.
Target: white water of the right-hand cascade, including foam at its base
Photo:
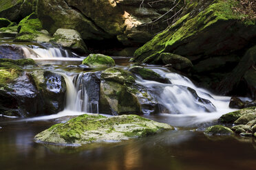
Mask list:
[[[187,77],[179,75],[178,73],[169,73],[163,69],[152,69],[162,77],[167,77],[171,84],[162,84],[159,82],[138,79],[136,82],[146,86],[147,88],[162,88],[162,93],[158,97],[158,102],[167,108],[171,114],[162,113],[163,117],[188,117],[184,119],[184,124],[201,123],[204,121],[212,121],[218,119],[222,114],[232,112],[234,109],[228,107],[231,97],[222,97],[213,95],[209,91],[198,88]],[[193,97],[193,94],[186,89],[186,87],[193,88],[199,97],[211,101],[216,110],[212,110],[209,105],[199,102]],[[202,107],[210,108],[209,111]],[[188,121],[191,121],[190,123]],[[181,123],[181,124],[182,124]]]

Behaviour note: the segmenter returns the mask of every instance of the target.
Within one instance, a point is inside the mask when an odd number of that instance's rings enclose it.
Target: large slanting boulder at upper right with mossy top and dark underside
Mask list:
[[[188,12],[184,11],[178,21],[136,50],[136,62],[154,63],[161,53],[175,53],[198,61],[227,56],[246,48],[255,38],[252,14],[244,17],[237,12],[235,8],[243,7],[235,0],[191,1],[186,8]]]

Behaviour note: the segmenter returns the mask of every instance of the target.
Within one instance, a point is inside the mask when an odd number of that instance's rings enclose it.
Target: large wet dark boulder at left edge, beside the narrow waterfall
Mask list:
[[[8,116],[32,117],[63,110],[65,80],[49,71],[25,71],[32,59],[0,59],[0,112]]]

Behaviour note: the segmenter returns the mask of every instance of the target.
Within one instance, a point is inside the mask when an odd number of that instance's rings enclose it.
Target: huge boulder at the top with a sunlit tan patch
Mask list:
[[[114,38],[136,45],[165,29],[183,5],[184,1],[39,0],[37,12],[51,34],[58,28],[75,29],[86,40]]]

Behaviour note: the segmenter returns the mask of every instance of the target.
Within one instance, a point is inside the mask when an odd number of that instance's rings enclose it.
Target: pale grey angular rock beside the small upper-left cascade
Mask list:
[[[87,53],[87,47],[81,35],[74,29],[57,29],[51,42],[56,42],[62,47],[70,48],[78,53]]]

